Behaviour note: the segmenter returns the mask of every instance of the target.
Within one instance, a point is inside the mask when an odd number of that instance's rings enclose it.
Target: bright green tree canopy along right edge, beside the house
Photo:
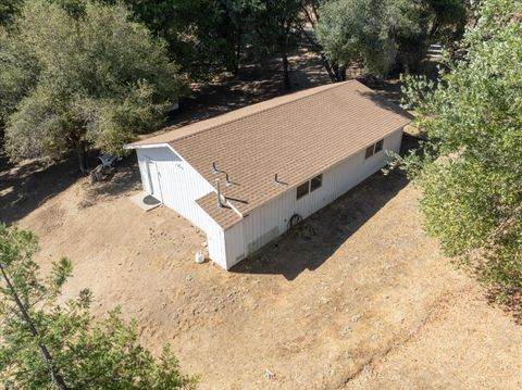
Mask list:
[[[437,83],[407,77],[426,133],[422,156],[400,161],[422,197],[426,230],[476,269],[497,297],[522,289],[522,1],[485,0],[446,55]]]

